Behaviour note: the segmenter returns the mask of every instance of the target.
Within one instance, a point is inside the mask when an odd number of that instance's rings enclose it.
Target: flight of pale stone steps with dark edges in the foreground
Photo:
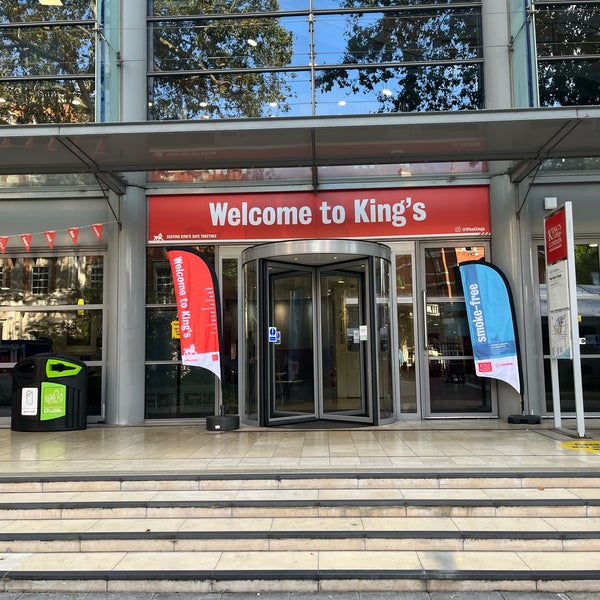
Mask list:
[[[600,478],[0,481],[0,591],[596,591]]]

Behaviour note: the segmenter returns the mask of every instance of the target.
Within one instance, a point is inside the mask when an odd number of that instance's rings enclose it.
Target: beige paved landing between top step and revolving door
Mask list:
[[[565,426],[568,426],[566,423]],[[574,427],[573,427],[574,429]],[[0,429],[0,476],[282,471],[581,471],[600,467],[600,422],[588,439],[500,420],[404,421],[378,428],[289,430],[202,424]]]

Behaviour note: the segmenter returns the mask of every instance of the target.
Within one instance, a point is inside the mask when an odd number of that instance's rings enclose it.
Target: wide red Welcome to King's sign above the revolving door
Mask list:
[[[487,186],[151,196],[148,241],[488,235]]]

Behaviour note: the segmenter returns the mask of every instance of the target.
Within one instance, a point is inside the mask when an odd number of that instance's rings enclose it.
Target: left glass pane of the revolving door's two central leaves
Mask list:
[[[312,272],[271,277],[270,418],[315,414]]]

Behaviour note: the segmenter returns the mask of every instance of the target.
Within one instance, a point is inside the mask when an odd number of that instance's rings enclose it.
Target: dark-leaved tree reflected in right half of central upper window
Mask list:
[[[406,3],[414,8],[390,11],[386,7],[399,3],[342,3],[357,4],[382,10],[348,15],[346,50],[338,60],[344,66],[321,71],[318,88],[379,92],[379,112],[480,108],[481,66],[473,60],[481,57],[478,7],[424,7],[415,0]],[[350,65],[358,67],[354,80]]]

